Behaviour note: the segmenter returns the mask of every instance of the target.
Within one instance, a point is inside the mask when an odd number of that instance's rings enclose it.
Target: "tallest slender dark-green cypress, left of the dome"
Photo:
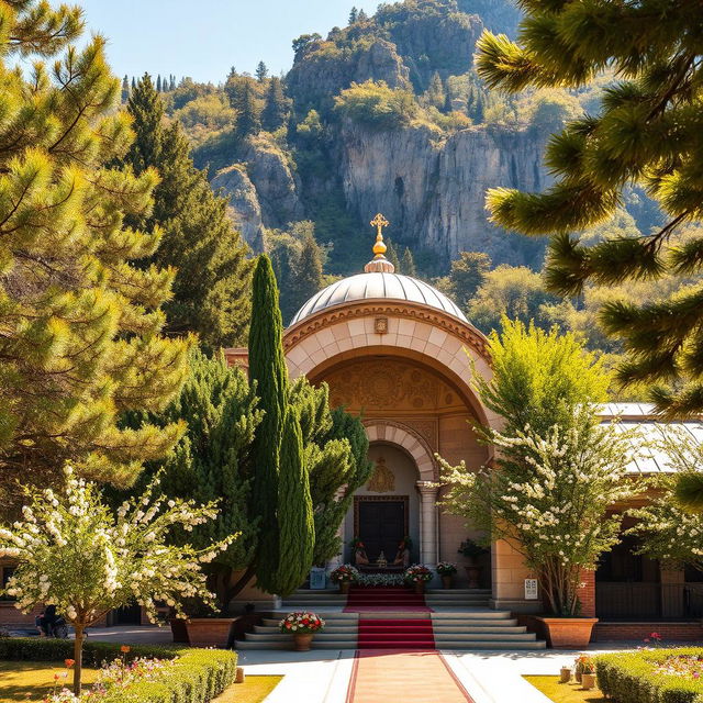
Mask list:
[[[249,328],[249,382],[256,383],[259,408],[265,412],[252,447],[254,486],[250,515],[260,517],[260,540],[254,570],[259,588],[276,592],[279,563],[278,477],[283,416],[288,404],[288,371],[283,356],[278,286],[271,263],[259,256],[252,290]]]

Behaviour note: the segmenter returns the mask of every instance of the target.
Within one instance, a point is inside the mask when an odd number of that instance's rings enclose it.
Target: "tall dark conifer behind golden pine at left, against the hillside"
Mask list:
[[[150,215],[131,221],[135,226],[164,230],[161,246],[145,266],[177,269],[174,298],[164,309],[171,334],[196,332],[210,347],[242,344],[249,313],[252,263],[226,213],[226,200],[215,196],[205,174],[194,168],[178,122],[164,130],[164,108],[145,76],[127,110],[135,142],[124,163],[136,174],[157,168]]]

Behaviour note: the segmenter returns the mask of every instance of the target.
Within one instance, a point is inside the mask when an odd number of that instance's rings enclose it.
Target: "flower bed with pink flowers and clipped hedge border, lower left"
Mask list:
[[[69,660],[71,655],[72,641],[67,639],[0,639],[0,659],[57,661]],[[234,682],[237,655],[217,649],[143,645],[121,648],[111,643],[87,643],[83,665],[102,667],[103,662],[112,663],[105,667],[104,674],[101,672],[96,694],[87,692],[87,700],[100,703],[208,703]],[[164,676],[166,670],[167,676]],[[68,694],[57,700],[76,699]]]

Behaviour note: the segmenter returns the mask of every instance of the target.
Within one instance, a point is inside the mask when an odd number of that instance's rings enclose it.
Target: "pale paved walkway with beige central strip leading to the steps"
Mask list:
[[[93,629],[93,640],[107,639],[124,644],[143,641],[169,641],[168,628],[155,627],[110,627]],[[672,643],[673,644],[673,643]],[[640,643],[618,643],[611,646],[591,645],[589,654],[613,651],[615,649],[635,649]],[[557,677],[559,668],[571,665],[577,651],[442,651],[442,659],[436,652],[432,671],[429,658],[419,655],[426,652],[383,652],[371,650],[365,654],[369,659],[356,659],[355,650],[246,650],[239,652],[239,665],[249,676],[279,674],[282,681],[266,699],[266,703],[549,703],[537,689],[527,683],[525,674],[550,674]],[[380,656],[379,656],[380,655]],[[360,665],[357,671],[357,684],[353,689],[354,698],[349,699],[349,682],[353,679],[355,661]],[[444,663],[442,663],[444,661]],[[446,678],[443,685],[455,681],[462,687],[470,698],[445,698],[437,694],[437,681],[431,692],[424,692],[423,677],[435,677],[436,663],[446,665]],[[366,673],[364,668],[367,667]],[[382,669],[381,669],[382,667]],[[371,696],[369,689],[362,689],[364,681],[359,671],[371,681],[376,677],[376,685],[381,687],[382,698],[378,692]],[[398,679],[395,679],[398,677]],[[398,689],[402,684],[402,689]],[[366,684],[364,684],[366,685]],[[393,687],[389,692],[388,687]],[[455,683],[451,695],[461,688]],[[386,690],[383,690],[386,689]],[[415,695],[415,698],[410,698]],[[420,696],[420,698],[417,698]],[[426,696],[426,698],[423,698]]]

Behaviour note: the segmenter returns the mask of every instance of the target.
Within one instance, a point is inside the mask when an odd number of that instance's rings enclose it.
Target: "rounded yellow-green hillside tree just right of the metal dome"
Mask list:
[[[483,281],[468,304],[468,316],[486,333],[498,330],[503,316],[548,326],[544,306],[557,303],[539,274],[525,266],[501,265],[483,275]]]

